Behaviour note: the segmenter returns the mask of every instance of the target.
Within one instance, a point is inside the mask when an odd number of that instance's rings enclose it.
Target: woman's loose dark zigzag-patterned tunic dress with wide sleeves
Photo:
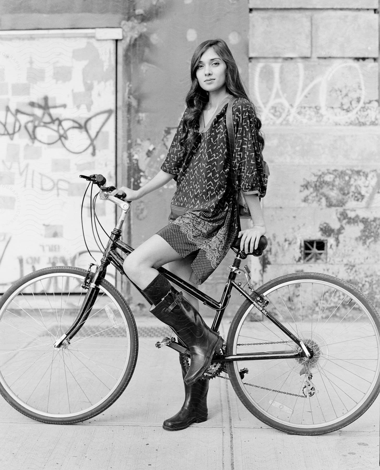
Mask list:
[[[161,169],[174,174],[177,189],[171,202],[169,224],[157,232],[183,258],[196,252],[189,281],[202,284],[226,256],[238,235],[236,198],[229,182],[226,110],[232,96],[215,110],[199,132],[198,145],[190,155],[179,156],[183,116]],[[257,173],[254,141],[254,110],[245,98],[233,105],[235,150],[233,172],[244,194],[265,196]],[[257,160],[260,165],[260,160]]]

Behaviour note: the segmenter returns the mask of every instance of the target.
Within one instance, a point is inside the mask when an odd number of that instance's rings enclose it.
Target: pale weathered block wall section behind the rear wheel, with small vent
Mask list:
[[[379,307],[379,2],[249,6],[249,89],[271,172],[256,280],[324,272]],[[305,240],[325,240],[326,257],[305,261]]]

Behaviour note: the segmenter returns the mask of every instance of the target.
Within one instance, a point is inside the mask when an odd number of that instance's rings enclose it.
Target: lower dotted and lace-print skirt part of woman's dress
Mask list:
[[[190,282],[205,282],[226,256],[237,234],[232,212],[232,200],[226,201],[224,210],[218,213],[171,206],[169,223],[157,235],[183,258],[197,252]]]

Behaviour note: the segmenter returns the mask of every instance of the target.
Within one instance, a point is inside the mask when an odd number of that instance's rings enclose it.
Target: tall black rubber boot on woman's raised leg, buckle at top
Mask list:
[[[189,348],[190,368],[183,381],[194,384],[210,366],[214,352],[221,349],[222,337],[206,325],[198,311],[182,297],[182,292],[175,290],[162,274],[143,293],[156,305],[150,312],[173,328]]]

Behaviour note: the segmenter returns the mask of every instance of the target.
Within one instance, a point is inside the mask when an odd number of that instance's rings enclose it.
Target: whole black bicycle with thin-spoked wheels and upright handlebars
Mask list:
[[[0,299],[0,393],[19,412],[44,423],[78,423],[102,413],[127,387],[137,359],[133,314],[104,278],[110,264],[125,275],[117,250],[133,251],[120,240],[131,206],[123,195],[110,195],[115,188],[105,187],[102,175],[80,176],[89,181],[87,189],[100,188],[90,196],[97,234],[96,197],[121,209],[100,265],[91,263],[87,271],[40,269]],[[355,287],[327,274],[287,274],[254,289],[248,267],[241,267],[248,254],[239,243],[231,245],[236,257],[219,302],[158,269],[216,311],[215,331],[232,288],[244,297],[204,378],[230,379],[245,407],[280,431],[318,435],[352,423],[380,391],[378,313]],[[260,256],[267,243],[261,237],[252,254]],[[238,275],[245,281],[237,282]],[[179,352],[189,366],[189,351],[179,338],[156,345]]]

